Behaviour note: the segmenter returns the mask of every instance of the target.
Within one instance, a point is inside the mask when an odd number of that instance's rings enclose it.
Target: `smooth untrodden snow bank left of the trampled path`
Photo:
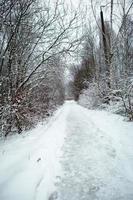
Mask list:
[[[68,109],[59,109],[47,126],[0,143],[0,200],[44,200],[54,191]]]

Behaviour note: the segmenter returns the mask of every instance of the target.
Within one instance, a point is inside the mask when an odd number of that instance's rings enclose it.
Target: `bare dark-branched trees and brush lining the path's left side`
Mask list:
[[[31,128],[64,101],[76,14],[63,1],[0,1],[0,135]]]

